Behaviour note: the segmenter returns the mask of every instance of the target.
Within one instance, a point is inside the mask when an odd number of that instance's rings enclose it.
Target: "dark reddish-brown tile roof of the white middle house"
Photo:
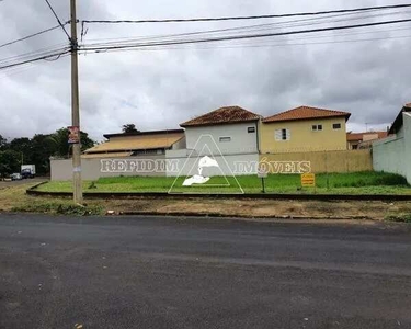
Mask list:
[[[238,122],[258,121],[261,116],[240,106],[225,106],[182,123],[180,126],[206,126]]]

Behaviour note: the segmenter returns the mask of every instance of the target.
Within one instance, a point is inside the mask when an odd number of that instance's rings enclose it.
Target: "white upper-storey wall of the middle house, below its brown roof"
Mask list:
[[[254,127],[254,133],[248,133],[249,127]],[[213,138],[207,137],[210,135]],[[201,138],[204,136],[203,138]],[[230,141],[220,141],[220,137],[230,137]],[[238,123],[228,125],[186,127],[186,148],[202,150],[207,145],[216,154],[217,147],[224,155],[258,152],[258,123]],[[215,145],[213,143],[215,140]]]

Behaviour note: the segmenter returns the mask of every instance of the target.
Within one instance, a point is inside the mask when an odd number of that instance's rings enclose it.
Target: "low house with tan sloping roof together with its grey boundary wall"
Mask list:
[[[185,148],[183,129],[106,134],[81,156],[84,180],[118,175],[165,175],[165,152]],[[72,179],[71,159],[50,159],[52,180]],[[137,170],[138,169],[138,170]]]

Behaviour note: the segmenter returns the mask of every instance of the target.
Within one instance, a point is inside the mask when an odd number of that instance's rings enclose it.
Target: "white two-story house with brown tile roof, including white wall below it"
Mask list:
[[[260,121],[260,115],[240,106],[217,109],[182,123],[186,149],[168,150],[165,157],[178,161],[180,174],[195,174],[198,159],[204,156],[212,156],[218,162],[215,174],[256,173],[255,166],[248,172],[240,172],[239,167],[259,161]],[[169,171],[167,174],[175,175]]]

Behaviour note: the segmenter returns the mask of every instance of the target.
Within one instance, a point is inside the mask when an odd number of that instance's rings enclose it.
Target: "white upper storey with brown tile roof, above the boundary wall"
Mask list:
[[[182,123],[189,150],[201,151],[204,145],[224,155],[258,154],[261,116],[240,106],[226,106]],[[203,136],[203,138],[202,138]],[[215,141],[209,143],[210,136]]]

